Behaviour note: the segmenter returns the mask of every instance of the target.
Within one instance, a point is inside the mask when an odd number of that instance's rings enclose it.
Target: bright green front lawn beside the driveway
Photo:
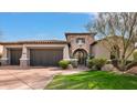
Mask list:
[[[46,89],[63,90],[134,90],[137,89],[137,76],[116,74],[104,71],[88,71],[71,75],[56,75]]]

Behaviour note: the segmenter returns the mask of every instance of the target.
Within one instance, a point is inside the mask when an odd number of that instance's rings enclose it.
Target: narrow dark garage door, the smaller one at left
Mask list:
[[[20,64],[21,54],[22,54],[22,50],[21,49],[10,50],[10,64],[11,65],[19,65]]]

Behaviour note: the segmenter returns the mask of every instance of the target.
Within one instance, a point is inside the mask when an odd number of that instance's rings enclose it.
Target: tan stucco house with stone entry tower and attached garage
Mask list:
[[[57,65],[60,60],[77,59],[85,64],[88,55],[110,58],[108,51],[96,43],[96,33],[65,33],[66,40],[35,40],[1,42],[2,65]]]

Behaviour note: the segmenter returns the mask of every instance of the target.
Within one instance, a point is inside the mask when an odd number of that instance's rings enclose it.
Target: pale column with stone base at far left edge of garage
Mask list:
[[[9,64],[8,49],[3,45],[3,54],[1,58],[1,65],[8,65],[8,64]]]

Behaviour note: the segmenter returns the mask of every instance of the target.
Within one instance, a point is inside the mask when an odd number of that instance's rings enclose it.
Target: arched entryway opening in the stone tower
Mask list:
[[[78,64],[86,64],[87,52],[83,49],[74,51],[73,56],[78,60]]]

